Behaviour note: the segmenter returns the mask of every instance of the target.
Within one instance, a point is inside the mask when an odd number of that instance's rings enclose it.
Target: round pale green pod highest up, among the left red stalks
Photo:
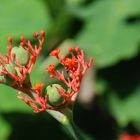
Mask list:
[[[26,66],[29,63],[29,59],[30,59],[29,52],[26,51],[23,47],[21,46],[14,47],[12,48],[11,53],[15,54],[16,60],[19,61],[20,65]]]

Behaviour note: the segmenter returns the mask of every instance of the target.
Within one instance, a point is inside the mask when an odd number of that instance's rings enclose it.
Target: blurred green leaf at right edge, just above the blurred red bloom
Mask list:
[[[125,127],[129,122],[140,124],[140,88],[121,100],[115,93],[109,97],[109,108],[119,125]],[[140,129],[140,125],[137,126]]]

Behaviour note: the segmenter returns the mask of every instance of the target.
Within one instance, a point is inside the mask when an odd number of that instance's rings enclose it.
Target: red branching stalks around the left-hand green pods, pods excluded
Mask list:
[[[2,70],[0,72],[0,76],[8,75],[10,78],[12,78],[15,81],[18,81],[20,83],[22,83],[24,81],[26,75],[30,74],[30,72],[32,71],[32,68],[36,62],[36,59],[42,50],[42,45],[44,42],[45,33],[42,31],[40,33],[40,35],[42,37],[41,39],[38,38],[38,33],[34,34],[34,37],[38,39],[39,46],[33,46],[29,40],[26,41],[26,39],[23,36],[21,37],[20,46],[23,47],[29,53],[29,56],[30,56],[29,62],[26,66],[21,65],[19,63],[19,60],[16,59],[15,54],[11,53],[11,51],[12,51],[12,38],[10,38],[10,37],[8,38],[8,41],[10,43],[10,45],[7,47],[8,53],[6,54],[6,57],[3,57],[0,54],[0,66],[2,67]],[[14,60],[14,64],[11,61],[11,58]],[[15,65],[17,67],[17,69],[19,70],[20,76],[17,74],[9,73],[5,68],[6,64],[9,64],[10,66]]]

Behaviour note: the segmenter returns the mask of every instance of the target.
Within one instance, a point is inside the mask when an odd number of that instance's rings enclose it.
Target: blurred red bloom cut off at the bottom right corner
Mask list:
[[[140,135],[124,134],[120,136],[119,140],[140,140]]]

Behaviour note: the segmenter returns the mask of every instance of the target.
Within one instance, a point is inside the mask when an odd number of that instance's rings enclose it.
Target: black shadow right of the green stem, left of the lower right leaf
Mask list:
[[[95,140],[113,140],[117,135],[117,123],[101,107],[101,97],[96,97],[91,110],[76,104],[74,120],[84,132],[93,136]]]

